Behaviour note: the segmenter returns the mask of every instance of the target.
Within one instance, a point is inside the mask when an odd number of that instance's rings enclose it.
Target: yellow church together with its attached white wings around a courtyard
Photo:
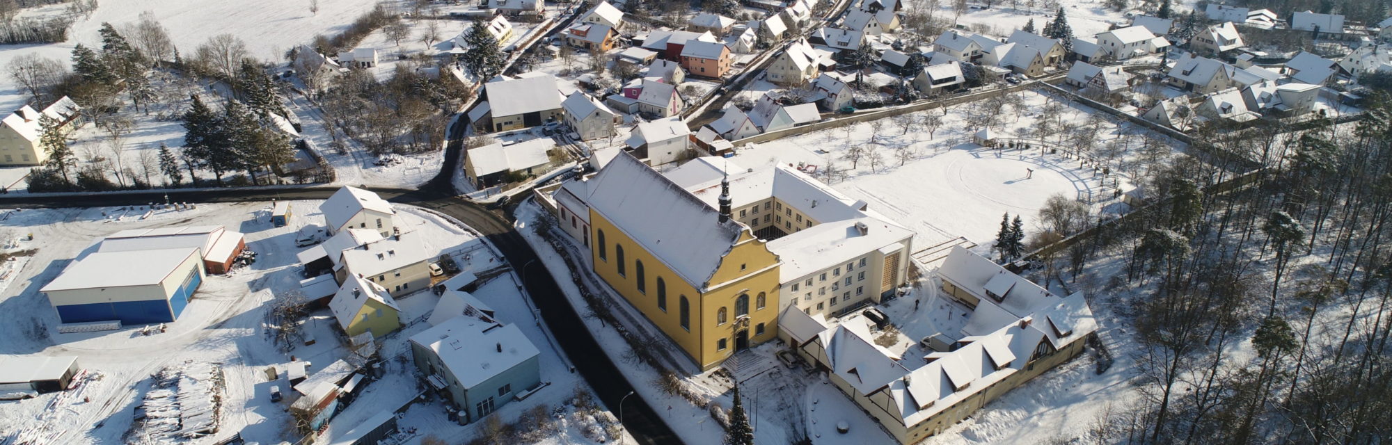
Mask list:
[[[796,168],[720,161],[670,178],[619,154],[578,197],[594,273],[700,369],[775,338],[786,305],[839,314],[903,285],[912,231]]]

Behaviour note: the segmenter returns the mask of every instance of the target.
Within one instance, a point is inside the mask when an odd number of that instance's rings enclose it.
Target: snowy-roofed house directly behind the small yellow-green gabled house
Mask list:
[[[430,288],[429,264],[438,253],[423,235],[402,232],[342,250],[334,264],[334,280],[344,284],[349,277],[363,277],[391,296],[402,296]]]

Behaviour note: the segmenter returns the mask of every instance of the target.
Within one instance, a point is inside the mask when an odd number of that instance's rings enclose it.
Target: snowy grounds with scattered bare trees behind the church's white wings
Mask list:
[[[1031,111],[1020,113],[1016,118],[1016,113],[1006,108],[998,132],[1001,138],[1023,135],[1034,122],[1033,110],[1048,100],[1033,90],[1020,95]],[[1075,124],[1083,124],[1089,113],[1098,113],[1075,103],[1068,106],[1063,114]],[[1012,218],[1019,214],[1027,232],[1033,232],[1033,220],[1048,196],[1062,193],[1073,199],[1079,192],[1084,196],[1089,191],[1102,192],[1101,178],[1094,177],[1091,167],[1079,168],[1076,160],[1062,154],[1041,154],[1038,149],[992,150],[972,143],[976,128],[966,127],[967,107],[970,106],[951,107],[942,117],[942,125],[933,134],[915,125],[901,135],[901,128],[884,122],[880,136],[871,142],[873,124],[862,122],[849,132],[846,128],[832,128],[745,146],[732,160],[741,167],[803,163],[818,165],[818,171],[824,171],[830,161],[849,170],[848,179],[832,182],[831,186],[846,196],[866,200],[870,207],[917,231],[913,242],[916,249],[958,236],[986,248],[995,239],[1002,213],[1009,213]],[[942,111],[927,110],[915,115],[923,113]],[[1140,131],[1132,124],[1107,120],[1098,132],[1100,145]],[[903,145],[915,156],[899,165],[892,147]],[[873,147],[884,159],[883,165],[871,170],[870,161],[862,159],[852,170],[851,161],[842,159],[851,146]],[[1132,147],[1121,159],[1134,159],[1137,152]],[[1128,178],[1122,177],[1121,181],[1126,184]]]

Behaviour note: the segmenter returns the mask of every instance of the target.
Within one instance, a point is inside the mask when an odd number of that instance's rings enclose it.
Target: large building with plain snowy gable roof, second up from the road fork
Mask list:
[[[469,118],[484,132],[558,122],[565,113],[561,108],[564,96],[557,89],[557,79],[543,72],[516,79],[490,81],[483,83],[483,96],[484,100],[469,111]]]

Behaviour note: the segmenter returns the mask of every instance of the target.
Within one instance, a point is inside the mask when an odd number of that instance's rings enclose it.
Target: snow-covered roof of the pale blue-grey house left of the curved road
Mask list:
[[[434,352],[452,380],[473,388],[540,355],[515,324],[454,317],[412,335],[411,342]],[[515,388],[522,391],[526,388]]]

